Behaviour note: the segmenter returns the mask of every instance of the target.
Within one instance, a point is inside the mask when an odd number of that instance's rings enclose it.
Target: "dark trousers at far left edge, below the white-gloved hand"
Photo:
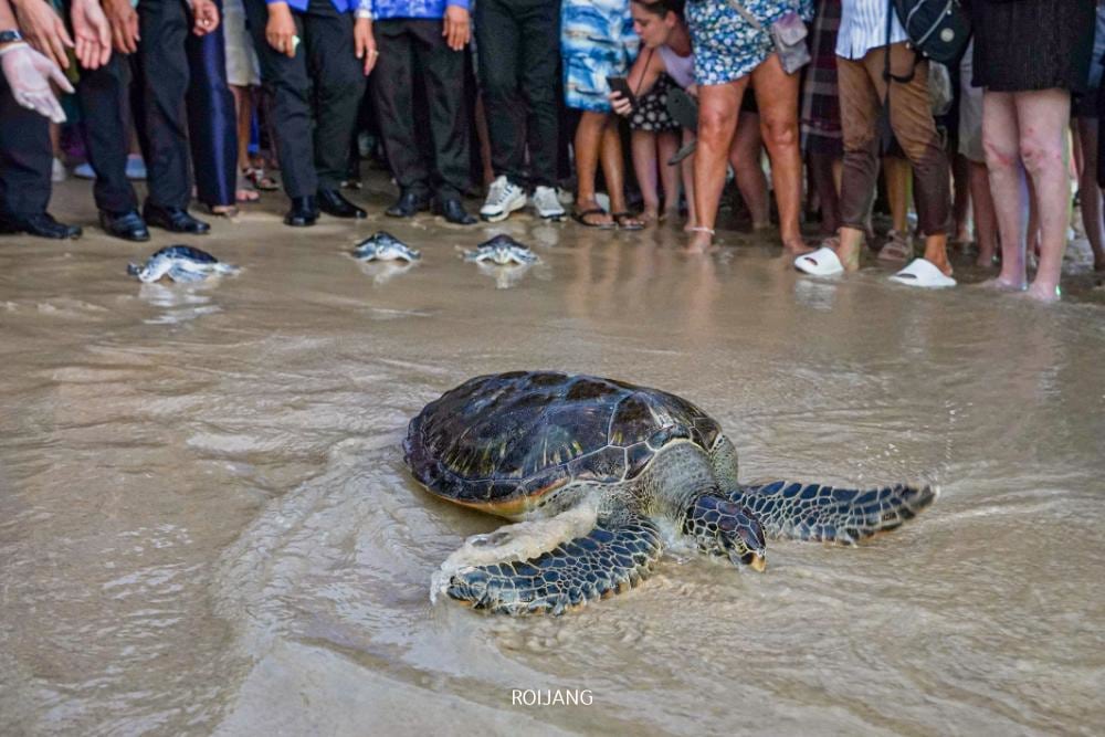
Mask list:
[[[20,106],[0,74],[0,218],[46,211],[53,161],[50,120]]]

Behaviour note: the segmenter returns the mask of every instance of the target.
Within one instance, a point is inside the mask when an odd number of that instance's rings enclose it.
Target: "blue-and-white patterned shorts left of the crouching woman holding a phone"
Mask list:
[[[608,76],[625,76],[639,40],[629,0],[564,0],[560,53],[568,107],[609,113]]]

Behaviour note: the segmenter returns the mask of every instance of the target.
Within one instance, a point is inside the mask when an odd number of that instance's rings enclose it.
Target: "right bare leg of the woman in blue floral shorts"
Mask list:
[[[779,235],[790,253],[810,249],[802,240],[802,152],[798,145],[798,74],[782,71],[778,54],[771,54],[753,71],[760,128],[771,156],[771,181],[779,204]]]

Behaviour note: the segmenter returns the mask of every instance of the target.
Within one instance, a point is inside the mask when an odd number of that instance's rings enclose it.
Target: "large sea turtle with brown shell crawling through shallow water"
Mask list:
[[[937,495],[741,484],[733,443],[691,402],[551,371],[445,392],[411,420],[403,451],[432,494],[523,520],[469,538],[434,575],[434,596],[508,614],[559,614],[622,591],[678,540],[764,570],[766,536],[852,545]]]

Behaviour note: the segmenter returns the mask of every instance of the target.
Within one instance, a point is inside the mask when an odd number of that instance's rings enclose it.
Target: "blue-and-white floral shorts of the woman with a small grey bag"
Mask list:
[[[746,21],[730,0],[688,0],[686,18],[699,85],[734,82],[762,64],[775,51],[768,29],[787,13],[797,11],[807,22],[813,18],[813,0],[743,0],[741,4],[762,31]]]

